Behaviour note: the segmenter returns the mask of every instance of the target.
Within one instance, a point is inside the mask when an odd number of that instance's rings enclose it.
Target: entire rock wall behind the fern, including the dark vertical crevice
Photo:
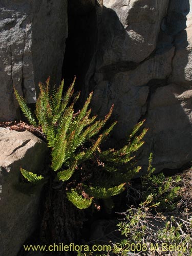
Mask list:
[[[0,1],[0,121],[19,116],[15,84],[28,103],[35,85],[62,74],[103,117],[114,103],[121,143],[146,118],[141,163],[157,170],[192,159],[192,0]],[[65,51],[65,61],[63,55]]]

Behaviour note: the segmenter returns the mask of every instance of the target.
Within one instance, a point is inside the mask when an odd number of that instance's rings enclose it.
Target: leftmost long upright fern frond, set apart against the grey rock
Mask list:
[[[14,88],[15,97],[16,97],[16,99],[18,101],[18,104],[19,104],[20,108],[22,109],[25,117],[27,118],[27,120],[29,121],[30,124],[32,124],[33,126],[36,127],[37,123],[35,121],[35,118],[34,118],[33,114],[31,113],[30,109],[28,108],[24,97],[22,97],[18,94],[15,87],[13,87],[13,88]]]

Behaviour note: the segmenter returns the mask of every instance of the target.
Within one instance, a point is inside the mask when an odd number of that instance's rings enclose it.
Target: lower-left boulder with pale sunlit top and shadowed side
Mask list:
[[[1,256],[16,256],[36,228],[42,186],[28,190],[30,185],[21,182],[19,167],[39,172],[46,152],[46,143],[30,132],[0,128]]]

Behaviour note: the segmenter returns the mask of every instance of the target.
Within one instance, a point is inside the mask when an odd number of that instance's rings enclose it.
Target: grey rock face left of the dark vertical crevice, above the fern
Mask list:
[[[0,121],[19,117],[13,85],[34,103],[39,81],[60,82],[67,24],[67,0],[0,1]]]

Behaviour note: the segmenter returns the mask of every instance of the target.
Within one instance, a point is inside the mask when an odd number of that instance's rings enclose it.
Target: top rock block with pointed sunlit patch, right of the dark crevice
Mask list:
[[[156,48],[161,20],[168,0],[104,0],[103,24],[99,28],[103,65],[117,61],[140,62]]]

